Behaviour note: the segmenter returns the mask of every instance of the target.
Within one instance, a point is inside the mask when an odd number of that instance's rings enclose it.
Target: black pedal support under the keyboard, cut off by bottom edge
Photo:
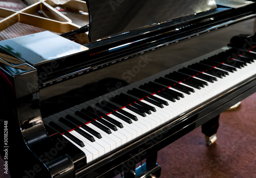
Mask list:
[[[161,167],[157,164],[157,152],[146,158],[146,163],[129,172],[124,173],[123,178],[157,178],[160,177]]]

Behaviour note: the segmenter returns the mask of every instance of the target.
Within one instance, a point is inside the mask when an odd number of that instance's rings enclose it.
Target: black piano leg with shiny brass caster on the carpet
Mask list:
[[[205,135],[206,144],[208,146],[212,145],[217,140],[216,133],[219,127],[219,117],[220,115],[202,125],[202,133]]]

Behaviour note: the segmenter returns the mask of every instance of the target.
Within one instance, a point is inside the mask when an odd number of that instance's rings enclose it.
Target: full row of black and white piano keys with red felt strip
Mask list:
[[[90,163],[174,120],[256,74],[256,54],[230,49],[177,66],[44,119],[82,150]]]

